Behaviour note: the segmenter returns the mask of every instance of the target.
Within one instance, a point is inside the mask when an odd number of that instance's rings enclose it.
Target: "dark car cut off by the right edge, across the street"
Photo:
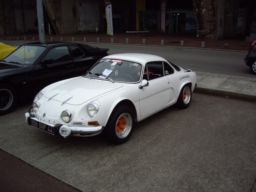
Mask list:
[[[251,43],[249,52],[246,58],[244,58],[244,61],[246,65],[250,67],[252,73],[256,75],[256,39]]]

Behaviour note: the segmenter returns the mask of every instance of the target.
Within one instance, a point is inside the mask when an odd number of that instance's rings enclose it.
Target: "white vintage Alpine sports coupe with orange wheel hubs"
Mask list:
[[[196,73],[162,57],[122,53],[100,59],[83,76],[53,83],[25,114],[29,125],[63,137],[104,133],[124,143],[139,122],[164,108],[187,108]]]

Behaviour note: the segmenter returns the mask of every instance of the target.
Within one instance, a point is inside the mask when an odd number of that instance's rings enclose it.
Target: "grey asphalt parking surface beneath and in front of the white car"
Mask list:
[[[193,93],[189,108],[167,108],[113,145],[30,127],[30,102],[0,117],[0,148],[79,190],[256,191],[255,103]]]

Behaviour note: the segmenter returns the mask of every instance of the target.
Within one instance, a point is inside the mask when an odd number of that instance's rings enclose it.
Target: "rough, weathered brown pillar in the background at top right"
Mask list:
[[[193,0],[197,37],[217,38],[218,0]]]

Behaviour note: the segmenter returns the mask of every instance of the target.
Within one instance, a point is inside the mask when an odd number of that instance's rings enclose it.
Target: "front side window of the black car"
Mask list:
[[[53,59],[54,63],[71,60],[68,46],[54,47],[45,56],[45,59]]]

